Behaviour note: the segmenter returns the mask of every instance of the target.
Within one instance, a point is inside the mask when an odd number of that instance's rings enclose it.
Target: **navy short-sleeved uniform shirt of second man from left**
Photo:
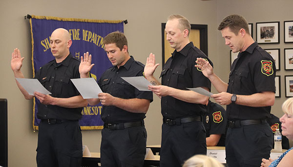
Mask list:
[[[137,88],[128,84],[121,77],[143,76],[145,65],[131,58],[122,66],[112,66],[102,74],[98,81],[104,93],[109,93],[114,97],[122,99],[147,99],[152,102],[152,92],[139,91]],[[124,122],[135,122],[146,118],[145,113],[132,113],[116,106],[103,106],[102,120],[105,124],[118,124]]]

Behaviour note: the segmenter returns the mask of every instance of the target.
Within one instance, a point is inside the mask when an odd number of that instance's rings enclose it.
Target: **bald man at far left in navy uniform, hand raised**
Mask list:
[[[80,61],[69,52],[72,44],[66,29],[58,28],[52,32],[50,47],[55,59],[43,65],[35,75],[52,94],[34,92],[40,101],[38,118],[41,119],[38,133],[38,167],[80,167],[83,157],[82,132],[79,119],[87,105],[70,79],[80,78]],[[15,78],[24,78],[21,73],[21,53],[15,49],[11,67]],[[25,99],[32,99],[17,82]]]

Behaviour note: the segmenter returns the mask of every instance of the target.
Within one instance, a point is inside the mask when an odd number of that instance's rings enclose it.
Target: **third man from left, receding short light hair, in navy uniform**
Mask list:
[[[158,66],[151,53],[146,61],[148,86],[161,98],[163,115],[160,167],[181,167],[195,154],[207,154],[206,132],[201,117],[209,98],[186,89],[202,87],[210,90],[210,82],[195,68],[196,58],[208,57],[189,42],[190,23],[180,15],[171,15],[166,23],[167,41],[174,48],[161,72],[162,85],[153,77]],[[209,61],[210,62],[210,61]]]

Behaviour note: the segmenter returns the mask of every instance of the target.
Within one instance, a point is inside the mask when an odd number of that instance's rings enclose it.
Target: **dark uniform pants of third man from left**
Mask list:
[[[201,121],[162,125],[160,167],[182,167],[195,154],[207,155],[206,130]]]

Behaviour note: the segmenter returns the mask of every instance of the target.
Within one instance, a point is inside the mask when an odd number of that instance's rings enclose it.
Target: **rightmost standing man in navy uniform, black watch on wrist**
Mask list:
[[[272,56],[249,34],[247,21],[230,15],[219,25],[225,44],[239,51],[231,66],[229,83],[214,74],[203,59],[195,65],[215,86],[214,100],[227,105],[226,161],[230,167],[259,167],[272,150],[272,130],[267,119],[275,100],[275,64]]]

